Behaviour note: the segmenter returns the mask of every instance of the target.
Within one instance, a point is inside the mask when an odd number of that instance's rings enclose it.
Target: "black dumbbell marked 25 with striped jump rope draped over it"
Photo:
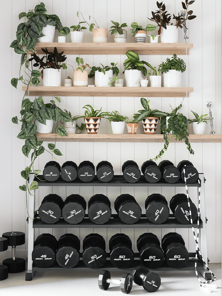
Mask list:
[[[188,160],[182,160],[178,163],[177,168],[181,173],[181,178],[183,179],[183,181],[184,181],[184,170],[185,170],[186,182],[188,184],[192,184],[198,180],[199,174],[197,169],[193,166],[192,162]]]

